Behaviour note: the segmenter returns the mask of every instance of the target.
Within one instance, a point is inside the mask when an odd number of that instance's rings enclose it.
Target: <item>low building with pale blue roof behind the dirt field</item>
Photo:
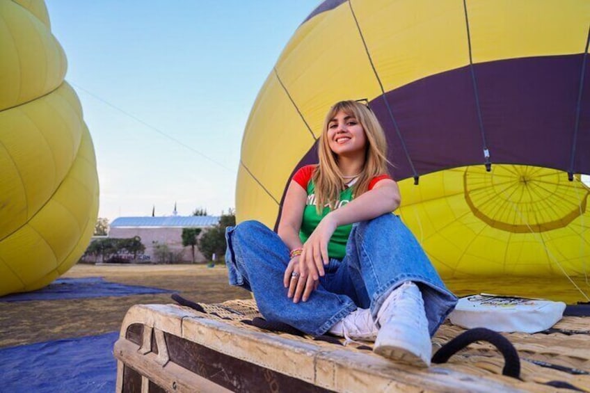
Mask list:
[[[169,216],[169,217],[119,217],[110,225],[110,238],[139,236],[145,246],[141,262],[191,262],[191,247],[182,246],[182,228],[207,228],[219,223],[214,216]],[[130,257],[130,255],[120,255]],[[205,257],[195,247],[195,261],[205,262]]]

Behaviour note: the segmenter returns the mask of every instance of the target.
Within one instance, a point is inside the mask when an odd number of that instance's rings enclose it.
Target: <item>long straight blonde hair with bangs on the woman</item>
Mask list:
[[[312,177],[318,214],[321,214],[326,204],[329,204],[330,209],[334,209],[346,184],[338,167],[337,154],[330,150],[328,144],[328,123],[340,111],[356,118],[367,136],[365,163],[363,163],[358,180],[353,186],[353,195],[358,196],[367,192],[369,182],[373,177],[389,174],[387,140],[374,113],[360,102],[337,102],[330,108],[326,120],[324,120],[324,129],[321,131],[318,143],[319,166]]]

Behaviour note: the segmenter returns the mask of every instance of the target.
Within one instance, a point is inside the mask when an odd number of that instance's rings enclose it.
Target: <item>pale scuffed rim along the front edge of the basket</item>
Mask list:
[[[384,392],[527,390],[527,385],[518,380],[495,375],[475,376],[449,364],[418,369],[372,352],[346,350],[342,346],[303,341],[290,335],[254,331],[246,326],[241,328],[176,305],[131,307],[122,330],[125,323],[147,323],[213,351],[337,392],[366,390],[369,386]],[[550,392],[552,388],[540,385],[537,391]]]

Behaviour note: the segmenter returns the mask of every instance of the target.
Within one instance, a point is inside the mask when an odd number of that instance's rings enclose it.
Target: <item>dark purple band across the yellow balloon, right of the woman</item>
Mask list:
[[[474,65],[494,162],[569,169],[575,74],[582,56],[518,58]],[[478,127],[477,113],[465,108],[465,102],[473,102],[469,85],[469,71],[462,67],[385,94],[396,108],[399,129],[420,175],[481,163],[481,141],[473,133]],[[411,177],[412,168],[398,159],[404,152],[393,141],[394,125],[387,109],[379,98],[370,105],[388,134],[388,158],[396,166],[392,168],[394,177]],[[582,103],[582,111],[590,111],[590,102]],[[581,126],[581,133],[590,132],[590,124]],[[590,138],[580,138],[577,147],[590,151]],[[580,173],[590,173],[590,157],[580,157],[578,165]]]

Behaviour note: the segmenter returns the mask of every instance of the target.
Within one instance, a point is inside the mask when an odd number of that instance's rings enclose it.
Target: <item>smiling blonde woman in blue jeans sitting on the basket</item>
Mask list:
[[[328,112],[319,165],[293,176],[278,234],[257,221],[228,228],[230,284],[253,291],[262,315],[310,335],[375,340],[374,351],[427,367],[431,335],[456,304],[399,207],[387,143],[355,101]]]

